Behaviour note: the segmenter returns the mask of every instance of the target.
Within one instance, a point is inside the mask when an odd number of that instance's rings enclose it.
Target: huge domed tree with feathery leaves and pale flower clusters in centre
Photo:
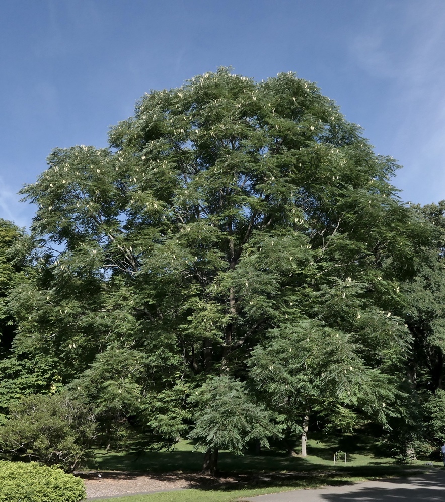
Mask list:
[[[212,413],[224,424],[226,408],[202,389],[224,403],[232,392],[252,416],[261,391],[256,416],[281,424],[265,435],[304,430],[324,388],[321,402],[353,416],[401,413],[409,332],[392,312],[430,229],[390,184],[395,161],[313,83],[221,68],[146,94],[109,138],[54,150],[23,190],[38,205],[33,232],[60,251],[16,293],[18,349],[46,354],[54,378],[78,378],[73,387],[122,423],[172,441],[191,427],[210,470],[224,442],[206,424]],[[326,373],[311,365],[302,325],[313,326],[310,350],[323,337],[331,352],[345,348],[325,354]],[[282,392],[280,416],[264,408],[277,403],[259,371],[283,357],[274,339],[299,361],[282,361],[277,385],[293,379],[301,398]],[[378,382],[388,402],[369,404]],[[244,434],[243,421],[228,424]]]

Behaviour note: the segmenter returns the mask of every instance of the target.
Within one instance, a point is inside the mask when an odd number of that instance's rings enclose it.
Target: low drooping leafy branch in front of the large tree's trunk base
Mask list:
[[[280,435],[272,413],[253,402],[245,384],[231,377],[210,377],[189,402],[196,409],[189,438],[204,451],[221,449],[241,455],[250,441],[268,447],[267,438]]]

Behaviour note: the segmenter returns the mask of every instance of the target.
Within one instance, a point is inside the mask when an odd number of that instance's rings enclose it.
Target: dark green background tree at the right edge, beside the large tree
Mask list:
[[[445,419],[440,414],[445,357],[445,202],[413,208],[419,217],[434,225],[435,232],[430,245],[417,250],[415,276],[401,285],[406,298],[401,315],[413,339],[407,379],[416,391],[418,425],[409,431],[403,427],[398,430],[403,431],[401,441],[412,437],[420,454],[437,455],[445,430]]]

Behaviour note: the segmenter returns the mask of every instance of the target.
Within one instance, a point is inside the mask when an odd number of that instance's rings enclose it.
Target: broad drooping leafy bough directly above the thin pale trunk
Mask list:
[[[377,364],[367,366],[365,348],[356,338],[304,320],[271,330],[252,351],[250,375],[290,429],[301,431],[303,416],[314,411],[331,429],[343,431],[366,420],[387,425],[388,417],[400,412],[397,398],[403,393],[395,375]]]

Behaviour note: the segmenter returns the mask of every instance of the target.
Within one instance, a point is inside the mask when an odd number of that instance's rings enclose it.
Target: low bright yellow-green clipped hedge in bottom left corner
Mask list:
[[[79,502],[84,482],[57,467],[0,460],[0,502]]]

